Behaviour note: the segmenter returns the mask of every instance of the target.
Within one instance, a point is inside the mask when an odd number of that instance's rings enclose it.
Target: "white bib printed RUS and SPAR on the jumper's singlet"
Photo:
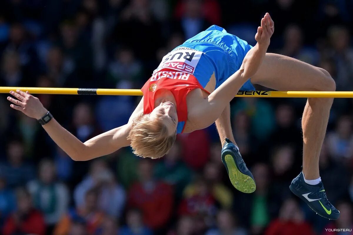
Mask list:
[[[158,68],[153,71],[153,74],[166,68],[194,74],[202,54],[202,51],[187,47],[176,48],[163,57],[162,62],[159,64]]]

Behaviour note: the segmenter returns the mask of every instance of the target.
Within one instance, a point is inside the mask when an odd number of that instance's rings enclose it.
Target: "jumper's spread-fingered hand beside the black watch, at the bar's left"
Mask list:
[[[19,110],[25,115],[35,119],[41,119],[44,115],[47,114],[48,110],[44,108],[41,101],[29,92],[23,92],[20,90],[10,91],[10,94],[13,95],[16,99],[12,97],[7,97],[7,100],[11,101],[13,104],[10,105],[12,109]]]

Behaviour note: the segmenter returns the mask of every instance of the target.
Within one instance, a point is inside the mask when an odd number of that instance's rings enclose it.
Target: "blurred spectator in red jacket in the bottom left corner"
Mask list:
[[[42,213],[32,206],[30,193],[24,188],[16,190],[17,210],[5,221],[2,234],[46,234],[46,224]]]

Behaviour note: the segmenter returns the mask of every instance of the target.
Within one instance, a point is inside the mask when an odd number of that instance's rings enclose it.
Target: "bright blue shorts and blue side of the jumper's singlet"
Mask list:
[[[179,47],[203,52],[193,75],[204,88],[213,73],[216,78],[215,88],[219,87],[229,76],[239,70],[246,53],[252,48],[244,40],[227,33],[225,29],[217,25],[212,25],[207,30],[186,40]],[[254,91],[255,88],[249,79],[240,90]]]

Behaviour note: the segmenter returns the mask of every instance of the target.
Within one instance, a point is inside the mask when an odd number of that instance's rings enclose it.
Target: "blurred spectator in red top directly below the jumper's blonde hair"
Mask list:
[[[138,164],[139,181],[128,192],[128,209],[141,211],[143,222],[151,229],[161,229],[172,216],[174,196],[172,186],[153,177],[154,162],[143,159]]]

